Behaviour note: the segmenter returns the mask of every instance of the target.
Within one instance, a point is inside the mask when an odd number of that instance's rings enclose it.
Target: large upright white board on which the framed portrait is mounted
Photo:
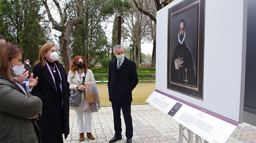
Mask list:
[[[242,122],[246,51],[244,0],[205,1],[203,100],[167,89],[168,9],[157,12],[156,89],[237,122]]]

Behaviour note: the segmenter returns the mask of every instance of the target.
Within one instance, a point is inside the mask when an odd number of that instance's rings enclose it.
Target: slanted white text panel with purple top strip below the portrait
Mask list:
[[[225,143],[238,125],[185,101],[168,97],[155,90],[146,101],[210,143]],[[179,109],[174,115],[170,114],[177,104],[180,105]]]

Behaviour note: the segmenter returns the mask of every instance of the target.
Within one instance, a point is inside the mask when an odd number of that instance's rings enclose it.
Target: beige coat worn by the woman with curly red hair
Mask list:
[[[73,71],[69,71],[69,73],[68,73],[68,82],[69,82],[70,90],[72,90],[72,89],[75,90],[77,86],[81,85],[82,82],[83,82],[83,77],[84,76],[85,76],[85,72],[83,72],[81,77],[79,77],[79,74],[78,74],[77,71],[75,71],[75,75],[74,75]],[[89,81],[94,81],[95,82],[92,70],[87,69],[86,77],[85,77],[84,82],[89,82]],[[78,107],[69,106],[70,107],[69,109],[82,111],[83,101],[84,101],[84,91],[82,91],[82,96],[81,96],[81,100],[79,102],[79,106]]]

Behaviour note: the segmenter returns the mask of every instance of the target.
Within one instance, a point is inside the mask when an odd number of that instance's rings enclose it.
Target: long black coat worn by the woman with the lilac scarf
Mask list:
[[[63,142],[62,133],[65,134],[65,139],[69,134],[69,83],[64,68],[58,62],[55,63],[62,78],[64,127],[61,127],[58,95],[48,67],[46,65],[42,67],[41,63],[38,63],[32,70],[34,78],[38,76],[38,84],[33,87],[31,94],[39,97],[43,102],[42,118],[37,121],[42,143],[60,143]]]

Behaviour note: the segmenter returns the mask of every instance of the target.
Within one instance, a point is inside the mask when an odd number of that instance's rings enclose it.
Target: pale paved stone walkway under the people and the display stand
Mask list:
[[[179,124],[152,105],[131,105],[131,115],[133,143],[178,143]],[[117,143],[126,143],[123,116],[121,119],[123,140],[117,141]],[[92,121],[92,134],[95,140],[89,140],[85,134],[85,140],[81,143],[107,143],[113,138],[115,131],[111,106],[101,107],[99,112],[92,113]],[[70,134],[64,143],[79,143],[79,133],[73,110],[70,110],[69,125]],[[185,134],[187,136],[187,133]],[[183,141],[185,143],[185,138]],[[239,124],[226,143],[256,143],[256,127],[247,123]]]

